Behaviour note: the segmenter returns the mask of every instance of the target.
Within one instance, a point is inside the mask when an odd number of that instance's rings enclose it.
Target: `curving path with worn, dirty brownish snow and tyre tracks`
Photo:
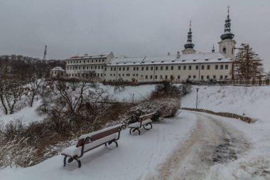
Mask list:
[[[229,123],[197,114],[193,134],[163,163],[158,179],[205,179],[210,166],[237,159],[249,147]]]

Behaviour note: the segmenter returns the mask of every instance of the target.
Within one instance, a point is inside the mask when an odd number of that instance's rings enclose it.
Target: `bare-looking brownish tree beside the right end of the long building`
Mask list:
[[[264,74],[263,64],[259,55],[254,53],[249,44],[241,44],[239,52],[234,58],[234,78],[259,79]]]

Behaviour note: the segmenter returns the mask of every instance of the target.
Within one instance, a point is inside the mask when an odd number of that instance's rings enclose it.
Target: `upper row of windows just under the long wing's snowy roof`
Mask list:
[[[188,70],[192,70],[192,65],[183,65],[183,70],[186,70],[187,69],[187,67],[188,67]],[[200,65],[200,69],[201,70],[205,70],[205,68],[207,69],[207,70],[210,70],[210,65]],[[228,69],[229,68],[229,65],[215,65],[215,69],[216,70],[218,70],[218,69]],[[159,69],[160,70],[169,70],[169,66],[164,66],[164,68],[163,68],[163,66],[160,66],[159,67]],[[173,65],[171,65],[171,67],[170,67],[170,70],[173,70],[174,69],[174,66]],[[196,65],[195,66],[195,69],[196,70],[198,70],[199,69],[199,65]],[[115,71],[115,70],[117,70],[117,68],[116,67],[114,67],[114,68],[111,68],[111,71]],[[119,67],[118,68],[118,70],[119,71],[121,71],[121,70],[129,70],[129,67]],[[133,70],[139,70],[139,67],[133,67]],[[151,67],[148,67],[148,66],[146,66],[146,67],[141,67],[141,70],[153,70],[153,66],[151,66]],[[158,70],[158,66],[156,66],[156,70]],[[178,65],[178,70],[181,70],[181,66],[180,65]]]

